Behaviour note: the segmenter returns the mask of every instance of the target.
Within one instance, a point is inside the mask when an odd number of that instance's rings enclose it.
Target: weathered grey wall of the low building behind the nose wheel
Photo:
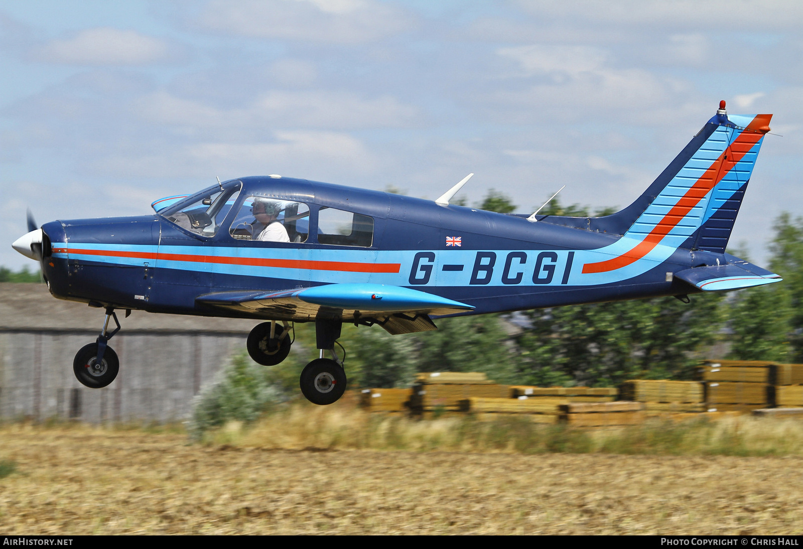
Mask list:
[[[123,330],[109,341],[120,358],[111,385],[84,387],[72,373],[75,352],[97,330],[0,328],[0,418],[181,421],[190,401],[230,357],[245,351],[246,333]]]

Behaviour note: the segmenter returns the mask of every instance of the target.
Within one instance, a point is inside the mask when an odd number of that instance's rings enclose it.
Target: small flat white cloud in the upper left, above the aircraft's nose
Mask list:
[[[39,61],[75,65],[142,65],[168,55],[163,40],[108,26],[81,31],[71,39],[53,40],[35,51]]]

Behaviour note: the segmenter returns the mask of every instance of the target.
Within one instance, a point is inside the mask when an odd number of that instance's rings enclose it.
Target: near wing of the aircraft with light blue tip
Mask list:
[[[384,284],[325,284],[286,291],[235,290],[199,295],[197,303],[275,320],[343,319],[380,324],[391,334],[436,330],[429,315],[471,311],[439,295]]]

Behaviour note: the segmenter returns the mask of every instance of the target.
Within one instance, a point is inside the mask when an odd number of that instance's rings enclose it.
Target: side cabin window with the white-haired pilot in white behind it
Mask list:
[[[229,233],[237,240],[307,242],[309,207],[303,202],[247,197]]]

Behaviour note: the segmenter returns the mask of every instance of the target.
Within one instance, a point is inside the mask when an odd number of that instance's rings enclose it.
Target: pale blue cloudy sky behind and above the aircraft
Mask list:
[[[26,209],[152,214],[279,173],[532,213],[634,201],[715,114],[772,113],[731,239],[803,211],[803,2],[0,2],[0,265]],[[460,196],[460,195],[459,195]]]

